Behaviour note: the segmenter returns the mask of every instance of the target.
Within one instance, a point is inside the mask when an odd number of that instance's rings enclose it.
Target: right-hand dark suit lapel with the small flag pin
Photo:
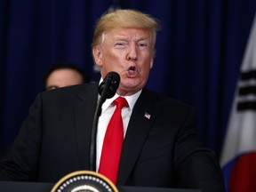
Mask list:
[[[118,185],[124,185],[140,155],[144,141],[155,119],[153,97],[143,90],[137,100],[124,139],[124,146],[119,166]],[[152,95],[151,95],[152,96]]]

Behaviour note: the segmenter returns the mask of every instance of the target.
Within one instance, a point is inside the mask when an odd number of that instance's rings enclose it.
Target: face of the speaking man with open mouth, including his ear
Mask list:
[[[147,30],[113,29],[104,36],[102,45],[94,47],[92,52],[103,78],[110,71],[120,75],[118,94],[132,95],[147,83],[153,66],[152,45]]]

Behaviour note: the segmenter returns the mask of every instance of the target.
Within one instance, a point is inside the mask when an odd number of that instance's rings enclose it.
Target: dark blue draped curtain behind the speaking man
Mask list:
[[[44,91],[53,62],[76,62],[97,80],[92,32],[113,5],[161,20],[148,87],[194,106],[199,132],[220,155],[255,0],[0,0],[0,149]]]

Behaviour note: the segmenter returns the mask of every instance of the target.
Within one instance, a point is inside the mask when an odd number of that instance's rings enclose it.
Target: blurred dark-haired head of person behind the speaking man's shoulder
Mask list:
[[[85,84],[90,82],[90,77],[71,62],[58,62],[48,69],[44,77],[45,90],[52,90],[60,87]]]

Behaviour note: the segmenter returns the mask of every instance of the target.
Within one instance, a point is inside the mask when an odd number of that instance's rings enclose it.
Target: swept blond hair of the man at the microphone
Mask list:
[[[106,12],[96,23],[92,38],[92,47],[102,44],[104,34],[115,28],[139,28],[148,30],[151,37],[151,47],[155,56],[156,31],[160,24],[152,16],[132,9]]]

